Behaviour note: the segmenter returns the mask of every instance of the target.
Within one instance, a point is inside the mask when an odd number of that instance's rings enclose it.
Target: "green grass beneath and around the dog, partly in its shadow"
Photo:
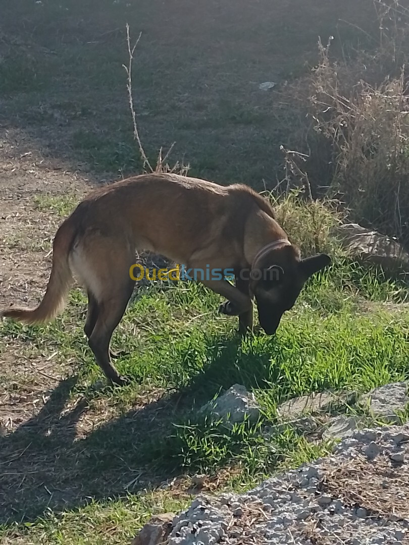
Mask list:
[[[80,508],[81,524],[87,513],[98,512],[98,519],[104,518],[107,510],[109,517],[124,518],[119,533],[127,531],[134,509],[123,492],[124,482],[131,481],[136,469],[147,476],[143,487],[149,490],[172,475],[196,471],[211,475],[234,468],[226,486],[243,489],[280,467],[294,467],[323,455],[326,444],[309,443],[290,425],[277,426],[268,439],[263,436],[264,426],[274,428],[278,422],[278,403],[326,389],[368,391],[409,377],[409,316],[402,312],[392,319],[388,313],[357,312],[355,277],[362,280],[360,298],[379,302],[394,298],[395,283],[343,263],[309,283],[276,337],[258,334],[245,341],[236,336],[234,319],[216,313],[218,296],[198,284],[165,283],[141,289],[113,338],[114,349],[129,351],[116,365],[134,383],[114,391],[95,389],[101,373],[83,338],[86,300],[79,290],[71,293],[67,311],[53,324],[29,327],[4,322],[0,335],[5,342],[29,345],[33,353],[39,351],[45,358],[58,349],[58,360],[78,362],[77,383],[69,386],[62,399],[61,392],[55,394],[56,421],[69,399],[74,403],[73,415],[79,399],[85,400],[91,413],[98,407],[113,411],[111,419],[90,430],[85,438],[74,442],[71,438],[65,445],[59,439],[62,432],[44,438],[26,431],[3,439],[5,446],[13,452],[29,446],[38,459],[60,452],[48,486],[68,486],[62,468],[69,464],[74,468],[71,482],[80,480],[81,495],[96,502],[88,511]],[[350,282],[345,282],[346,278]],[[400,290],[406,288],[401,286]],[[244,384],[259,399],[263,410],[258,422],[230,427],[198,413],[203,403],[234,383]],[[161,399],[154,395],[158,391],[163,392]],[[148,403],[135,408],[143,396]],[[69,418],[69,413],[65,414],[61,428]],[[75,421],[75,415],[73,418]],[[135,485],[128,493],[133,505],[143,511],[147,499],[146,493],[137,491],[139,487]],[[117,498],[117,503],[111,505],[108,498]],[[44,499],[30,505],[28,496],[14,502],[19,517],[31,524],[19,531],[28,532],[33,543],[41,542],[35,537],[41,532],[49,542],[56,535],[65,536],[67,520],[75,518],[72,512],[62,518],[52,514],[54,511],[47,514],[49,502]],[[58,502],[55,507],[58,512]],[[77,508],[76,500],[71,508]],[[115,514],[117,511],[123,514]],[[11,516],[9,524],[17,519]],[[8,535],[10,526],[4,531]],[[76,535],[74,532],[68,542],[87,542]],[[109,543],[116,543],[117,536]]]

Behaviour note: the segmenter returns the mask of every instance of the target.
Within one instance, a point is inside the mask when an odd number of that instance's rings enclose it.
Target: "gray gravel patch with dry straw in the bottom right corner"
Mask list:
[[[364,429],[246,494],[200,496],[169,545],[409,543],[409,425]]]

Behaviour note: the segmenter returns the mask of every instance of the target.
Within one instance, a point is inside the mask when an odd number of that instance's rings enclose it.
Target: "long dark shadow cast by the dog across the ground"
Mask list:
[[[252,362],[257,366],[254,373],[245,358],[237,337],[227,342],[209,339],[207,364],[187,386],[96,424],[95,429],[91,424],[92,431],[83,437],[81,422],[87,420],[89,429],[98,392],[94,399],[84,396],[67,407],[77,379],[61,381],[37,416],[0,438],[0,524],[32,521],[47,509],[67,510],[90,498],[123,496],[172,477],[169,471],[147,470],[150,445],[160,444],[172,422],[183,420],[221,388],[234,383],[260,387],[263,378],[271,379],[268,354]],[[151,462],[148,465],[154,467]],[[173,469],[174,474],[181,471],[176,461]]]

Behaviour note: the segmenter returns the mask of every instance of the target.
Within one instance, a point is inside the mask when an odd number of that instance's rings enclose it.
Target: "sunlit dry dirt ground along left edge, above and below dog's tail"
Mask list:
[[[22,131],[4,131],[0,138],[0,307],[31,306],[44,293],[51,241],[61,222],[38,203],[67,195],[80,199],[92,184],[86,175],[42,156]],[[11,431],[37,413],[41,398],[69,364],[56,368],[41,354],[31,355],[27,342],[16,336],[1,343],[0,368],[0,425]]]

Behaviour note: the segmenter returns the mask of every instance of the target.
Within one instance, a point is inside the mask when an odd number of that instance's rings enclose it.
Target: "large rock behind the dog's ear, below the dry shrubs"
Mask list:
[[[409,267],[409,256],[396,240],[358,223],[336,226],[330,234],[340,241],[347,255],[359,261],[381,265],[385,270]]]

